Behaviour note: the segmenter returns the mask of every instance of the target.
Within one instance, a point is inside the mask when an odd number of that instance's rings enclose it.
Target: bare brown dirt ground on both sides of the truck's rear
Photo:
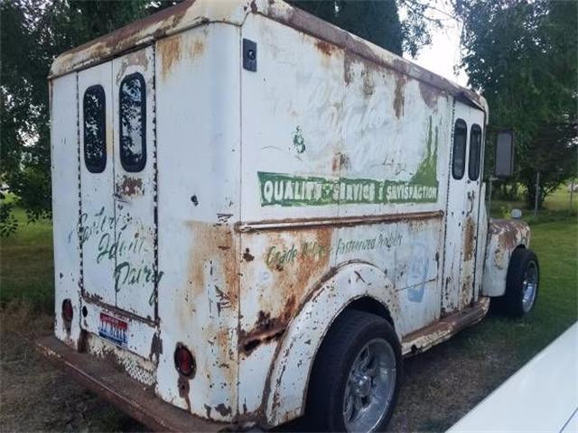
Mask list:
[[[49,316],[33,315],[25,308],[0,313],[2,431],[145,430],[36,353],[34,337],[51,334]],[[406,360],[390,431],[443,431],[513,373],[516,366],[507,351],[480,356],[488,351],[471,347],[469,332]],[[298,430],[299,422],[286,429]]]

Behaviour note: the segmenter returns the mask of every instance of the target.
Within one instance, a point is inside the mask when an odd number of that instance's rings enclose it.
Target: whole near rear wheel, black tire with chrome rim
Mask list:
[[[401,379],[401,350],[387,320],[357,310],[336,319],[315,358],[307,419],[315,430],[380,431]]]

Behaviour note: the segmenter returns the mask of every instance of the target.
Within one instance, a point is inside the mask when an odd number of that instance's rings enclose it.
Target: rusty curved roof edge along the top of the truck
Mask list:
[[[284,23],[299,32],[350,51],[363,60],[425,82],[433,88],[447,92],[462,102],[488,113],[486,100],[470,89],[452,83],[410,60],[397,56],[281,0],[185,0],[179,5],[164,9],[62,53],[52,62],[49,79],[89,68],[192,27],[207,23],[229,23],[240,26],[245,22],[248,14],[261,14]],[[320,50],[323,49],[320,46]],[[325,47],[325,50],[327,49],[328,47]]]

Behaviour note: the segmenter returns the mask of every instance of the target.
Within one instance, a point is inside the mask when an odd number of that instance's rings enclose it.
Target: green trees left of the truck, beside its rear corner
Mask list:
[[[159,2],[156,7],[161,7]],[[152,9],[154,6],[152,5]],[[148,8],[147,8],[148,6]],[[0,3],[0,181],[29,219],[51,212],[47,76],[63,51],[150,12],[142,1],[12,0]],[[14,231],[14,203],[0,200],[0,235]]]

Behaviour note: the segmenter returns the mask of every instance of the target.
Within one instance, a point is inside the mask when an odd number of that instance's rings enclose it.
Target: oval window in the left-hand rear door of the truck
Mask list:
[[[102,173],[107,166],[105,90],[91,86],[84,92],[84,163],[91,173]]]

